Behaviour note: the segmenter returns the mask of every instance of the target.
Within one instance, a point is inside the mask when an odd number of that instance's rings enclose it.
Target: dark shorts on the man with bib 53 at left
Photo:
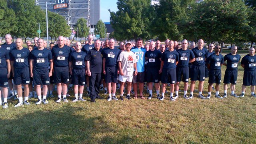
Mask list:
[[[14,84],[29,84],[30,83],[30,75],[29,68],[14,68]]]

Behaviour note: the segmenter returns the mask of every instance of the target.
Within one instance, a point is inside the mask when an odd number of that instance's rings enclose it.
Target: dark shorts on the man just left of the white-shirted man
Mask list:
[[[110,82],[114,82],[117,83],[117,70],[118,67],[114,66],[114,67],[105,67],[105,71],[106,71],[106,77],[105,77],[105,82],[108,84]]]

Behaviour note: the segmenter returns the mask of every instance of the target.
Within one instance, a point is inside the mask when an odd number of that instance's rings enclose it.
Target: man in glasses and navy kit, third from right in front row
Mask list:
[[[210,99],[211,97],[211,91],[212,91],[212,85],[216,83],[215,88],[216,88],[216,93],[215,97],[223,99],[222,96],[219,94],[220,90],[220,82],[221,82],[221,66],[224,63],[224,56],[220,54],[220,46],[216,45],[214,47],[214,54],[210,55],[209,58],[206,60],[207,67],[210,69],[209,70],[209,80],[208,80],[208,95],[206,99]]]

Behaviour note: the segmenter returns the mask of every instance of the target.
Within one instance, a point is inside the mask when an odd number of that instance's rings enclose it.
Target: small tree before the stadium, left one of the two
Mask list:
[[[87,27],[87,21],[84,18],[79,18],[76,22],[76,28],[78,28],[78,37],[83,38],[89,35],[90,28]]]

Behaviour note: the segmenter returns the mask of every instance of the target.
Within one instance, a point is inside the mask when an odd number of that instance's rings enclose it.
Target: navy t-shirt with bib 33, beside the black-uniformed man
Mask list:
[[[87,53],[84,51],[81,52],[71,52],[69,61],[72,62],[73,69],[82,69],[85,68],[85,58]]]

